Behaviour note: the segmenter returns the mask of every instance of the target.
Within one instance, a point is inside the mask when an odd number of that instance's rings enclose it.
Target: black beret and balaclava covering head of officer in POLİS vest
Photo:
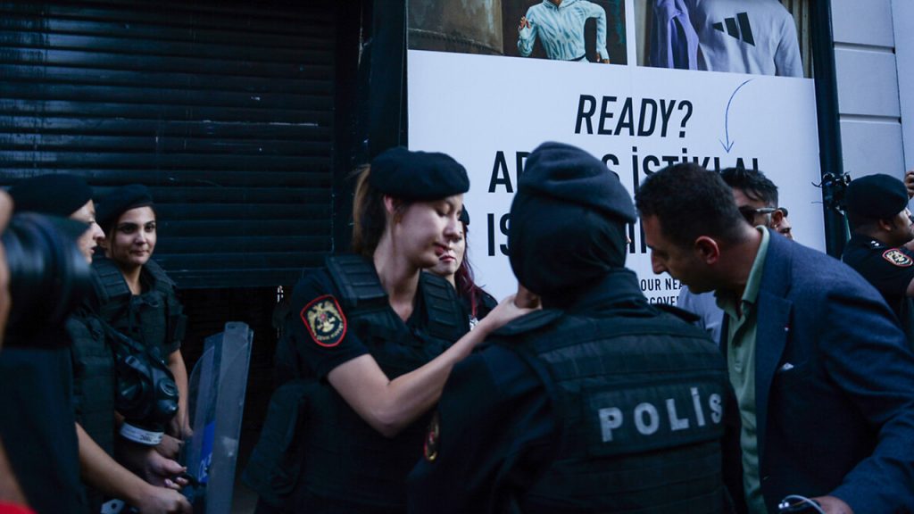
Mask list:
[[[632,197],[596,157],[540,145],[511,204],[508,248],[517,280],[544,300],[593,284],[625,265]]]

